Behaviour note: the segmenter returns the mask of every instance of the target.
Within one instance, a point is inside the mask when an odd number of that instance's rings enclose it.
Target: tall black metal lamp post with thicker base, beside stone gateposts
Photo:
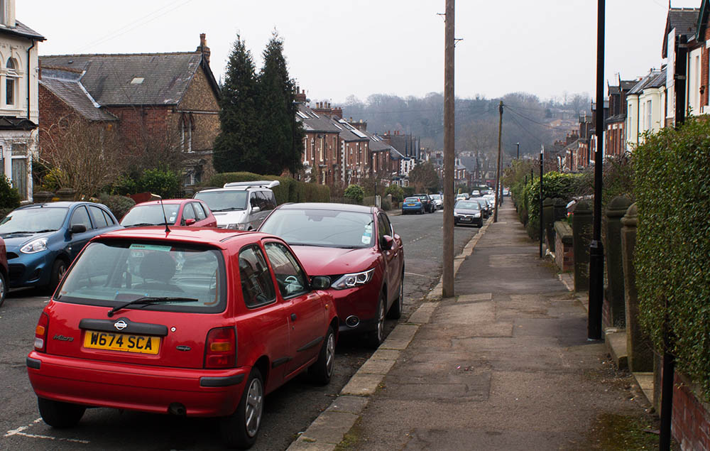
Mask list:
[[[604,21],[606,1],[598,0],[596,18],[596,149],[594,150],[594,232],[589,244],[588,339],[601,339],[601,306],[604,293],[604,247],[601,243],[601,183],[604,146]]]

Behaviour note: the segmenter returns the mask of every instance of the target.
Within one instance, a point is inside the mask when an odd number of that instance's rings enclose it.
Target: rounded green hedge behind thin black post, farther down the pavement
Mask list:
[[[555,199],[559,197],[564,202],[569,202],[577,195],[579,191],[579,183],[581,183],[580,174],[568,173],[547,173],[542,175],[542,199],[550,197]],[[528,222],[526,227],[528,235],[531,238],[537,239],[540,235],[540,178],[535,178],[532,183],[525,185],[525,202],[528,214]]]

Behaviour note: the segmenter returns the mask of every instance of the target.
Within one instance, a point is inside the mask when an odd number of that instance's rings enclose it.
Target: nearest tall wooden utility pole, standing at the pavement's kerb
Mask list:
[[[454,295],[454,0],[444,19],[444,274],[442,296]]]

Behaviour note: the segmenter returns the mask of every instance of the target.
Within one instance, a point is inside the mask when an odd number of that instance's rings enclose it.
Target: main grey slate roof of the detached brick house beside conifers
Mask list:
[[[81,84],[102,106],[178,104],[202,62],[195,52],[40,56],[42,66],[82,71]],[[209,65],[204,67],[219,95]]]

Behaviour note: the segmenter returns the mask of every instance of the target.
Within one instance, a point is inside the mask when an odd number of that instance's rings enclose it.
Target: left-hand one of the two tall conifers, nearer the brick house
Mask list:
[[[212,161],[217,172],[247,170],[263,173],[268,156],[257,146],[256,69],[251,52],[241,36],[229,55],[226,77],[219,99],[222,130],[214,141]]]

